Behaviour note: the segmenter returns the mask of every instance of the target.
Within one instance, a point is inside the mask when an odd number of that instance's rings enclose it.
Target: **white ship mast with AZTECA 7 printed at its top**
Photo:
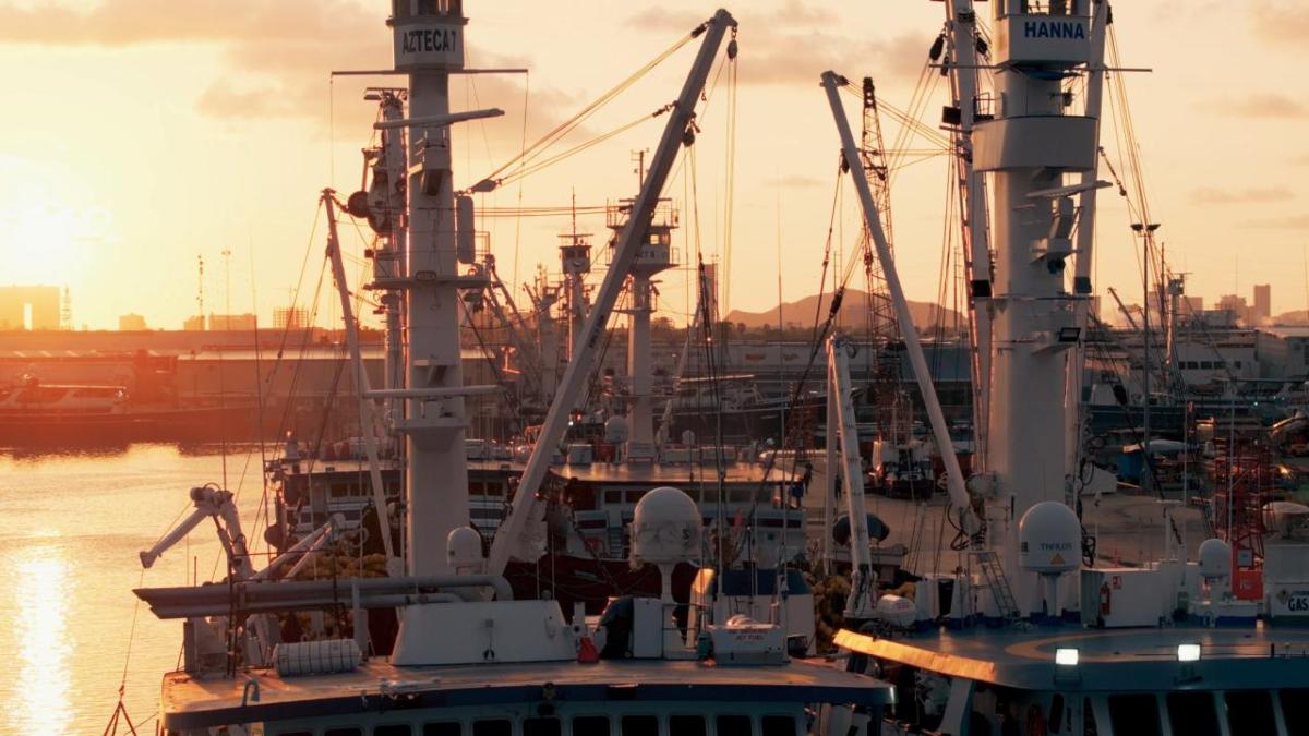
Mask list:
[[[480,287],[475,265],[473,200],[454,196],[449,126],[503,114],[487,110],[450,115],[450,75],[463,69],[459,0],[395,0],[395,69],[408,72],[408,182],[406,219],[404,355],[407,401],[397,428],[404,435],[407,563],[410,575],[453,572],[445,561],[452,530],[469,525],[463,448],[463,371],[459,364],[459,288]],[[402,626],[401,639],[407,634]]]

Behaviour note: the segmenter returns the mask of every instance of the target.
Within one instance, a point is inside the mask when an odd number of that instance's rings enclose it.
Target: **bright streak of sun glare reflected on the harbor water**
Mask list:
[[[69,732],[71,663],[67,610],[73,597],[68,559],[52,543],[33,541],[16,550],[13,564],[14,635],[18,639],[17,698],[10,726],[16,732],[41,724],[43,733]]]

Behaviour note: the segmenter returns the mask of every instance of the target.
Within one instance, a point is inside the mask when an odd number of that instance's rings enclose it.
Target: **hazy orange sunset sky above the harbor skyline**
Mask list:
[[[670,46],[716,4],[467,0],[470,67],[524,65],[528,138],[567,118]],[[988,4],[980,3],[988,17]],[[905,107],[941,28],[928,0],[750,0],[729,7],[740,28],[734,234],[725,242],[725,88],[711,97],[689,196],[689,164],[666,190],[687,227],[683,253],[729,261],[729,309],[776,304],[780,224],[783,291],[818,289],[833,202],[836,138],[818,75],[872,75],[884,100]],[[1145,165],[1153,219],[1191,295],[1250,297],[1272,284],[1272,312],[1309,306],[1309,3],[1121,0],[1114,7],[1122,63]],[[206,310],[262,321],[288,303],[300,275],[312,285],[322,258],[317,194],[359,187],[359,151],[376,107],[367,84],[331,69],[390,64],[386,0],[0,1],[0,284],[67,284],[79,327],[113,327],[122,313],[177,329],[196,310],[196,255],[207,263]],[[564,147],[670,101],[690,45]],[[936,79],[936,77],[932,77]],[[394,84],[394,80],[391,80]],[[935,126],[946,86],[923,119]],[[721,96],[719,96],[721,94]],[[456,185],[479,179],[522,144],[524,77],[461,77],[456,109],[499,106],[501,119],[457,130]],[[847,106],[855,113],[855,101]],[[569,158],[484,207],[563,206],[630,196],[631,151],[653,148],[662,119]],[[888,134],[898,128],[888,124]],[[1110,127],[1103,144],[1115,161]],[[927,144],[915,141],[911,147]],[[945,156],[894,179],[895,248],[911,299],[940,292]],[[1106,174],[1102,174],[1106,175]],[[1113,190],[1101,198],[1096,287],[1140,301],[1128,217]],[[838,241],[857,232],[850,186]],[[690,227],[699,213],[699,228]],[[583,229],[603,233],[602,220]],[[558,270],[565,219],[484,219],[501,275],[526,282],[535,265]],[[363,241],[346,225],[353,253]],[[597,238],[600,240],[600,238]],[[230,251],[224,267],[223,250]],[[351,279],[360,276],[357,262]],[[661,308],[682,321],[682,271],[664,274]],[[512,284],[517,288],[518,284]],[[522,293],[517,291],[517,293]],[[1138,295],[1138,296],[1131,296]],[[522,297],[526,301],[525,297]],[[325,304],[329,300],[325,297]],[[319,322],[335,323],[327,306]]]

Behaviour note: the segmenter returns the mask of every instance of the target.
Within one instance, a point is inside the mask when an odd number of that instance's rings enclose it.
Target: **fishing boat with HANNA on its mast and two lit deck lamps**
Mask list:
[[[1106,64],[1109,3],[944,7],[933,60],[950,76],[945,124],[969,204],[982,449],[971,477],[948,469],[957,563],[924,574],[912,600],[847,610],[855,622],[836,643],[852,668],[899,686],[888,724],[898,733],[1309,732],[1305,515],[1266,503],[1257,454],[1233,451],[1227,461],[1215,483],[1217,534],[1196,559],[1175,524],[1181,502],[1160,503],[1164,555],[1140,567],[1097,555],[1083,519],[1086,433],[1073,409],[1103,186],[1101,98],[1106,73],[1115,84],[1126,73],[1117,59]],[[982,88],[983,76],[994,86]],[[822,83],[888,259],[840,101],[848,83],[834,72]],[[912,325],[901,327],[914,354]],[[948,430],[935,419],[940,443]]]

